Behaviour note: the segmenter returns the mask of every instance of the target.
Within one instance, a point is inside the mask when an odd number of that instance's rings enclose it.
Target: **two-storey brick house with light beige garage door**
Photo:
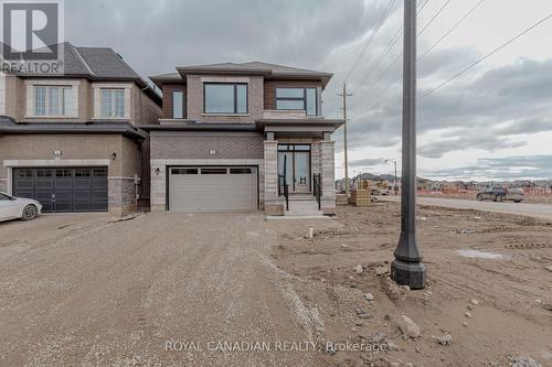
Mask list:
[[[150,78],[163,95],[159,123],[145,127],[152,211],[335,214],[331,74],[252,62]]]

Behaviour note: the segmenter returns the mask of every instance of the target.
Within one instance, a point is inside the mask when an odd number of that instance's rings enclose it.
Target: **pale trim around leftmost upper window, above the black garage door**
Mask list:
[[[78,86],[79,80],[72,79],[28,79],[25,80],[26,87],[26,108],[25,118],[40,118],[40,119],[74,119],[78,118]],[[34,87],[71,87],[71,98],[73,100],[73,108],[70,115],[34,115]],[[46,101],[47,104],[47,101]],[[46,105],[47,110],[47,105]]]

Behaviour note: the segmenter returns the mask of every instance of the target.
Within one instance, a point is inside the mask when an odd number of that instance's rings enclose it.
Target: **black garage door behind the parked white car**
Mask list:
[[[106,212],[107,168],[13,169],[13,195],[39,201],[43,212]]]

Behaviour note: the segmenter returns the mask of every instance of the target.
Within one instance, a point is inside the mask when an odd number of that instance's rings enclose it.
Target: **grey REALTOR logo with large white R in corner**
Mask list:
[[[18,65],[19,72],[59,72],[63,60],[63,0],[0,3],[2,68]]]

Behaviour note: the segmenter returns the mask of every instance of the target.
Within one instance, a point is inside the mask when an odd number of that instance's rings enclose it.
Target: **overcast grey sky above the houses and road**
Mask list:
[[[425,1],[425,0],[422,0]],[[423,29],[447,0],[429,0]],[[479,0],[450,0],[418,37],[418,55]],[[147,77],[177,65],[264,61],[333,73],[323,112],[339,117],[336,94],[390,0],[66,0],[66,39],[110,46]],[[376,66],[402,25],[391,14],[348,83],[349,174],[391,173],[400,161],[402,40]],[[537,21],[550,0],[485,0],[418,63],[420,95]],[[552,179],[552,19],[418,104],[418,173],[435,179]],[[386,74],[383,74],[389,68]],[[337,176],[343,175],[342,133]]]

